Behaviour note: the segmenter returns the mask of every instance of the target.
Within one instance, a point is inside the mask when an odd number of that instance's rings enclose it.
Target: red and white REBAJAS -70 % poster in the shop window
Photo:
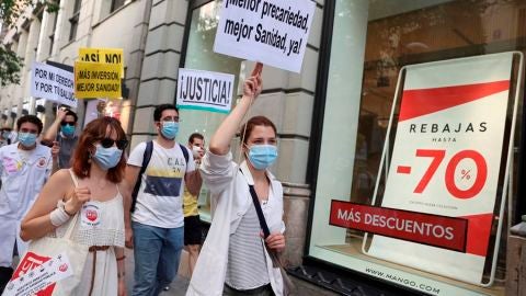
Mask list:
[[[513,53],[405,67],[381,206],[467,220],[465,251],[375,235],[369,255],[480,283],[489,253]]]

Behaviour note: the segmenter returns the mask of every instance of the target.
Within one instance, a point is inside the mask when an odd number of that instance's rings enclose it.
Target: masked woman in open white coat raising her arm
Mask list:
[[[201,172],[213,198],[213,221],[186,295],[283,295],[283,277],[270,252],[285,249],[282,184],[267,170],[277,158],[274,124],[264,116],[241,122],[262,90],[256,64],[243,96],[210,139]],[[241,133],[245,160],[232,161],[230,143]],[[250,192],[253,187],[253,195]],[[256,204],[270,236],[263,239]]]

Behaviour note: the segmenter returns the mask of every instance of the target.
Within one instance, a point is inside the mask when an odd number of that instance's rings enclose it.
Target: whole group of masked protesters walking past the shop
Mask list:
[[[244,81],[242,98],[208,148],[198,133],[178,138],[173,104],[156,107],[157,137],[129,156],[125,132],[112,117],[81,129],[73,111],[59,109],[45,133],[34,115],[20,117],[16,132],[2,126],[0,293],[13,277],[13,259],[30,242],[70,234],[88,249],[77,282],[69,281],[64,288],[70,295],[126,295],[128,252],[135,262],[132,295],[159,295],[175,277],[183,249],[192,276],[186,295],[284,295],[272,259],[286,244],[282,184],[268,171],[277,158],[276,127],[264,116],[243,124],[262,90],[262,67],[256,64]],[[230,151],[238,132],[241,163]],[[201,246],[203,183],[213,221]]]

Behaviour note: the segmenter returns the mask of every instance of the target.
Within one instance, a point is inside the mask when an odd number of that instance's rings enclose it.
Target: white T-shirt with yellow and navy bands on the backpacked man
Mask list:
[[[128,164],[141,167],[145,149],[146,143],[137,145],[129,155]],[[150,162],[139,177],[142,179],[132,220],[161,228],[182,227],[184,175],[194,170],[192,153],[188,151],[186,163],[178,143],[167,149],[153,141]]]

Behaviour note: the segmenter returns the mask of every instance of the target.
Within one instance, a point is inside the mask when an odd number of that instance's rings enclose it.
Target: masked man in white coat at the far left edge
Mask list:
[[[0,148],[0,292],[12,273],[13,254],[23,254],[20,221],[49,178],[53,160],[48,147],[36,141],[43,124],[35,115],[16,122],[19,141]]]

